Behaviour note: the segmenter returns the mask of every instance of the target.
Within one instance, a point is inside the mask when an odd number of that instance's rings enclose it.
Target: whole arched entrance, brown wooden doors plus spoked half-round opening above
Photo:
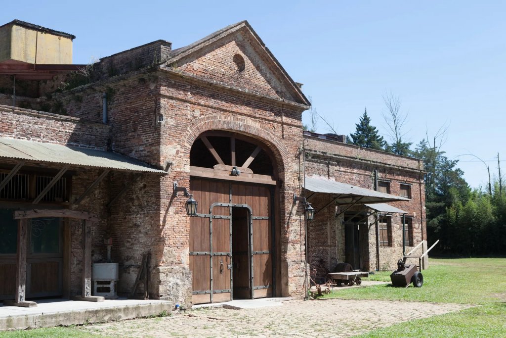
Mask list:
[[[256,170],[246,164],[243,167],[233,165],[237,156],[242,160],[249,157],[245,163],[259,160],[268,166],[266,155],[272,162],[272,169],[278,168],[278,164],[265,141],[247,137],[244,132],[231,132],[232,126],[234,124],[220,123],[217,127],[221,130],[204,131],[195,137],[190,148],[193,156],[190,161],[194,161],[190,163],[190,191],[199,201],[199,213],[191,217],[189,232],[194,304],[281,295],[280,201],[275,198],[279,196],[280,185],[275,179],[277,175],[274,172],[256,174]],[[246,129],[244,123],[240,126]],[[251,126],[247,129],[257,133],[260,130],[258,127],[252,130]],[[236,147],[238,137],[242,143]],[[228,147],[229,144],[235,145]],[[231,165],[225,159],[232,148]],[[252,148],[255,151],[251,153]],[[206,151],[219,163],[213,165],[212,158],[202,160]],[[195,152],[200,156],[196,157]],[[255,158],[254,154],[264,154],[263,160],[260,155]],[[242,173],[235,175],[233,170],[231,173],[232,168]],[[260,168],[255,166],[255,169]]]

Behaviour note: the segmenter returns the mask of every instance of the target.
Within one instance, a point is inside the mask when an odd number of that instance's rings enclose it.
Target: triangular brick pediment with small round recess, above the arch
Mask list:
[[[165,66],[228,88],[309,105],[246,21],[173,50]]]

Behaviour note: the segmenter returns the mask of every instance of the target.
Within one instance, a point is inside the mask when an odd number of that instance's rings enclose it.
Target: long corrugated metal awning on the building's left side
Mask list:
[[[117,171],[166,174],[163,170],[152,168],[140,161],[112,152],[10,138],[0,138],[1,158]]]

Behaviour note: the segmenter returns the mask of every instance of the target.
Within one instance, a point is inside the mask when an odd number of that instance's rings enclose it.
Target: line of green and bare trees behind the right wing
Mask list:
[[[346,142],[424,161],[429,246],[440,240],[433,252],[460,256],[506,254],[506,190],[499,154],[497,177],[490,178],[487,166],[487,189],[472,189],[463,178],[463,171],[457,167],[458,160],[450,160],[442,150],[447,127],[442,126],[433,137],[426,133],[426,138],[413,146],[405,139],[407,113],[401,111],[401,101],[392,93],[385,94],[383,99],[386,108],[383,118],[390,142],[371,124],[367,109],[355,125],[355,132],[346,136]],[[321,119],[332,133],[337,134],[330,119],[318,114],[314,108],[310,114],[310,125],[305,129],[316,132]]]

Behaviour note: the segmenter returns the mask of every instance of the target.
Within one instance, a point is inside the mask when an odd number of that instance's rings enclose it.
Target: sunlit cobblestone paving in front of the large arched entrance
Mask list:
[[[120,337],[349,337],[377,327],[470,306],[391,301],[292,300],[249,310],[206,308],[170,317],[84,326]]]

